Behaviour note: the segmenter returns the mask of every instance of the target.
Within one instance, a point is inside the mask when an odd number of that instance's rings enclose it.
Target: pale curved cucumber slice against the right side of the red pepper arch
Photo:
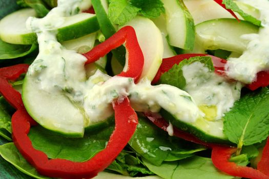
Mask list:
[[[139,46],[144,55],[144,66],[139,80],[148,78],[152,81],[162,62],[161,32],[152,20],[141,16],[136,16],[125,26],[132,26],[135,29]]]

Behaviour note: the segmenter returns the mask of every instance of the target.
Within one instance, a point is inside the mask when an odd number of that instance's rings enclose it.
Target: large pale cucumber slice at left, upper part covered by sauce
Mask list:
[[[84,116],[66,96],[39,90],[26,75],[22,98],[29,115],[43,127],[70,137],[83,137]]]

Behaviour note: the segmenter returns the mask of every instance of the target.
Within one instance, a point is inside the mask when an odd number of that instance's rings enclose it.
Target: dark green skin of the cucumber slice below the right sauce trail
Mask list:
[[[204,142],[235,146],[235,144],[228,139],[206,134],[204,131],[198,129],[197,127],[178,120],[174,115],[170,114],[167,110],[164,110],[163,108],[161,108],[160,114],[165,120],[167,120],[168,122],[170,121],[177,128],[191,133],[192,135],[196,136]]]

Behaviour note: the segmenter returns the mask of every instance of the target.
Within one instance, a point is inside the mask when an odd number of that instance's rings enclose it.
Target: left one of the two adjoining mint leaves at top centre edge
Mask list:
[[[139,8],[131,5],[127,0],[111,0],[108,8],[108,16],[112,24],[125,25],[134,18]]]

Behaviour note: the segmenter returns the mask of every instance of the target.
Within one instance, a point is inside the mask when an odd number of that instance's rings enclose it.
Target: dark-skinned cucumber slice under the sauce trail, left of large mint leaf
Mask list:
[[[197,119],[193,123],[183,122],[170,114],[167,110],[160,110],[161,116],[170,121],[177,128],[187,131],[204,142],[221,143],[231,145],[232,143],[224,136],[223,121],[208,121],[205,119]]]

